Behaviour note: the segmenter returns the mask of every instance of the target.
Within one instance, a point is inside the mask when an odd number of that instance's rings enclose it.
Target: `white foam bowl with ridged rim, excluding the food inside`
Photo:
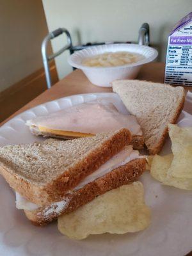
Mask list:
[[[116,67],[86,67],[82,65],[84,58],[89,58],[104,52],[128,51],[139,53],[145,59],[136,63]],[[111,82],[117,79],[134,79],[138,75],[141,65],[156,59],[158,52],[152,47],[138,44],[105,44],[88,47],[77,51],[68,57],[72,67],[80,68],[90,82],[97,86],[111,87]]]

